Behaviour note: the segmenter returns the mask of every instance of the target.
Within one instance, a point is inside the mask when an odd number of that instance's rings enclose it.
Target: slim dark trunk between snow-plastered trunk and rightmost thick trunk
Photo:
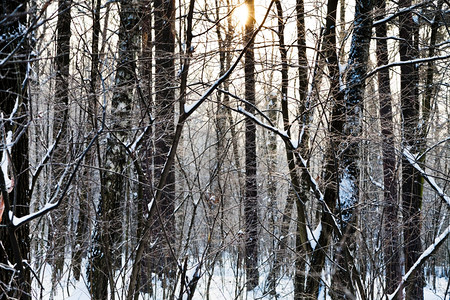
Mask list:
[[[379,18],[383,18],[386,11],[385,0],[377,3]],[[377,35],[377,64],[387,65],[388,47],[387,26],[385,23],[376,27]],[[391,294],[401,281],[402,270],[400,263],[400,237],[398,207],[398,170],[394,144],[394,125],[392,116],[392,97],[390,88],[389,69],[380,70],[378,73],[378,98],[380,102],[380,125],[382,133],[382,160],[384,183],[384,208],[383,208],[383,256],[386,274],[386,293]],[[402,299],[401,293],[397,296]]]

